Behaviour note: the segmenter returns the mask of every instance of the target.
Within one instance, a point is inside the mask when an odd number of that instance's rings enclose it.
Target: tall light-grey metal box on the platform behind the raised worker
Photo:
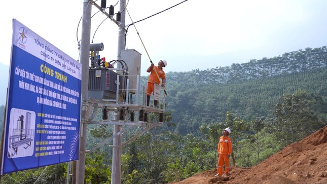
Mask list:
[[[141,54],[134,49],[122,50],[121,60],[128,66],[129,92],[135,93],[136,75],[141,73]]]

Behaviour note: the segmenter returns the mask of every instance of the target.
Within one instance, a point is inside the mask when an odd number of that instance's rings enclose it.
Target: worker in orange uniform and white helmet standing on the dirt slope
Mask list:
[[[233,152],[232,149],[232,139],[228,136],[231,134],[229,128],[223,130],[223,136],[219,138],[218,143],[218,168],[217,174],[214,176],[223,175],[224,162],[225,162],[225,174],[229,172],[229,157]]]

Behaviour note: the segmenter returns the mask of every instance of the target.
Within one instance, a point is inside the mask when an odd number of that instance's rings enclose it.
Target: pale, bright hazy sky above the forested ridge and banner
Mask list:
[[[0,11],[0,62],[10,65],[12,19],[78,60],[84,0],[4,1]],[[118,0],[107,0],[106,7]],[[129,0],[126,27],[184,0]],[[100,5],[101,1],[96,1]],[[327,45],[325,0],[188,0],[130,26],[126,49],[141,53],[141,75],[150,60],[167,61],[165,72],[192,71],[281,56]],[[117,59],[118,26],[92,6],[91,43],[103,43],[101,57]],[[108,9],[106,9],[108,12]],[[116,16],[114,16],[116,18]],[[103,22],[103,23],[101,23]],[[139,36],[137,34],[139,33]],[[142,44],[142,42],[143,44]],[[148,52],[148,54],[147,54]]]

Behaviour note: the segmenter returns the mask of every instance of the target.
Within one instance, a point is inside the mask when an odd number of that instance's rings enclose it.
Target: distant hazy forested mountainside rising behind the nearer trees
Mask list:
[[[279,97],[306,90],[327,98],[327,48],[191,72],[169,72],[166,98],[176,132],[199,133],[202,124],[225,121],[227,111],[243,119],[272,116]]]

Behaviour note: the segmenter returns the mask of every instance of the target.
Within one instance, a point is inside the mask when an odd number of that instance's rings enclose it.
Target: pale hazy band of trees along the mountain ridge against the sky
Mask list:
[[[203,61],[205,62],[205,61]],[[227,84],[251,79],[284,76],[308,70],[325,68],[327,66],[327,47],[306,48],[285,53],[273,58],[252,59],[247,63],[225,67],[215,67],[207,70],[195,69],[175,76],[178,72],[169,73],[172,81],[194,84]]]

